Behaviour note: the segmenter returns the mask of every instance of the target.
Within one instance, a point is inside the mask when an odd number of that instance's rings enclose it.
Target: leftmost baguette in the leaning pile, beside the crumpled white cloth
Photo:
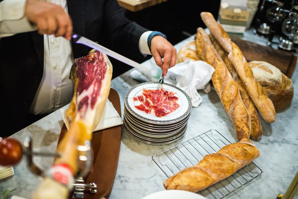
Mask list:
[[[215,69],[212,74],[212,83],[221,100],[222,105],[231,119],[238,141],[242,138],[249,139],[251,117],[240,97],[238,86],[232,79],[221,56],[212,45],[209,36],[203,28],[197,29],[197,48],[202,49],[202,58]]]

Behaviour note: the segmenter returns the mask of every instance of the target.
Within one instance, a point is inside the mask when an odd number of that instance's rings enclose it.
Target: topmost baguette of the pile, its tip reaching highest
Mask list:
[[[211,13],[202,12],[201,18],[213,37],[229,53],[228,58],[233,63],[240,79],[249,93],[254,105],[266,122],[272,123],[276,119],[276,112],[272,101],[267,97],[264,88],[254,78],[252,69],[249,67],[239,47],[231,41],[223,27],[216,22]]]

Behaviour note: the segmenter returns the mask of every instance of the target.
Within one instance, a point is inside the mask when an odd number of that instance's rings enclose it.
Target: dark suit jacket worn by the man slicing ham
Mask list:
[[[125,9],[119,6],[117,0],[69,0],[67,5],[73,32],[122,55],[142,56],[139,38],[148,29],[129,21],[125,17]],[[81,44],[72,44],[72,49],[75,58],[85,56],[91,50]],[[43,35],[35,31],[1,38],[0,136],[24,128],[24,119],[43,76],[43,69]]]

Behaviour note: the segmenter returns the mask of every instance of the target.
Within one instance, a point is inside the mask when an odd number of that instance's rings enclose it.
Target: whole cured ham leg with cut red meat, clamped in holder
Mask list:
[[[66,111],[69,129],[57,149],[61,156],[55,159],[32,198],[68,198],[73,177],[77,174],[77,147],[92,139],[92,132],[100,121],[109,95],[112,71],[108,57],[94,49],[89,55],[75,60],[69,75],[75,84],[75,92]]]

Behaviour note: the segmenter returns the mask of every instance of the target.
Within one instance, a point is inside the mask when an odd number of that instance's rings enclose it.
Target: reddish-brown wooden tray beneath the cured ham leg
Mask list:
[[[108,99],[121,116],[121,105],[117,91],[111,88]],[[63,124],[57,148],[66,132],[66,126]],[[118,165],[120,142],[121,125],[93,133],[91,140],[91,147],[93,148],[93,168],[84,180],[86,184],[91,182],[96,183],[97,193],[91,194],[89,191],[85,191],[85,199],[100,199],[110,196]],[[70,194],[70,198],[72,198],[72,193]]]

